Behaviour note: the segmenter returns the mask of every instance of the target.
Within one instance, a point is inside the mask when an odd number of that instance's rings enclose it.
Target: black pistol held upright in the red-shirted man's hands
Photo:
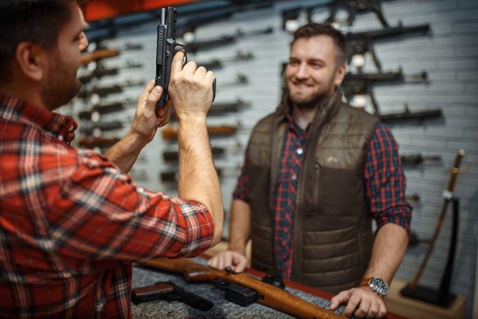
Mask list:
[[[163,88],[163,95],[156,106],[164,107],[168,99],[168,86],[171,76],[171,63],[177,47],[185,51],[185,63],[187,63],[186,45],[176,42],[176,8],[168,7],[161,9],[161,19],[158,25],[157,49],[156,49],[156,85]],[[212,84],[212,101],[216,97],[216,79]]]

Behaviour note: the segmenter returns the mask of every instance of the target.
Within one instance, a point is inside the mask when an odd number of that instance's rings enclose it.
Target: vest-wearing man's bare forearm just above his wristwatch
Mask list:
[[[393,223],[382,226],[376,234],[372,258],[363,277],[378,277],[390,284],[402,262],[407,245],[408,235],[405,228]]]

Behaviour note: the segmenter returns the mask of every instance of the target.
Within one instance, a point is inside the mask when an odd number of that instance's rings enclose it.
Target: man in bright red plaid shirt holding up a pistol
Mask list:
[[[168,122],[169,104],[155,115],[161,87],[146,86],[105,156],[73,149],[76,122],[52,110],[80,89],[88,41],[78,4],[0,6],[0,317],[130,318],[132,261],[193,257],[222,234],[206,127],[214,74],[174,57],[179,198],[142,189],[126,173]]]

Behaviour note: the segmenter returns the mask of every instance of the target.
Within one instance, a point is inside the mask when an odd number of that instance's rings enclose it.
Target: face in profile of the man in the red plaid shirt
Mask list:
[[[80,53],[88,46],[83,14],[75,1],[71,1],[71,19],[58,34],[56,49],[50,52],[48,69],[41,89],[45,105],[54,110],[67,104],[80,91],[76,73],[80,67]]]

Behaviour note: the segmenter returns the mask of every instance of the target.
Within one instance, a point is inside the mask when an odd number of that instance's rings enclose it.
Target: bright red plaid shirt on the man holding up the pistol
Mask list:
[[[0,316],[130,318],[131,261],[192,257],[214,222],[69,146],[71,117],[0,96]]]

